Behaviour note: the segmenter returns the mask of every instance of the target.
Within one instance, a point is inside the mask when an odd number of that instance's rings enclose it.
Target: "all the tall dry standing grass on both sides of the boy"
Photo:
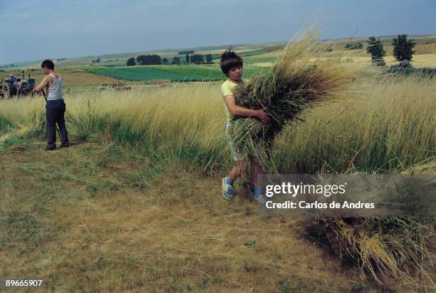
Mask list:
[[[275,170],[383,173],[434,160],[435,83],[383,75],[349,83],[348,98],[308,109],[303,122],[286,125],[271,149]],[[73,140],[115,140],[208,172],[232,165],[217,83],[88,88],[66,95],[66,104]],[[44,120],[42,97],[0,101],[0,140],[14,131],[43,140]]]

